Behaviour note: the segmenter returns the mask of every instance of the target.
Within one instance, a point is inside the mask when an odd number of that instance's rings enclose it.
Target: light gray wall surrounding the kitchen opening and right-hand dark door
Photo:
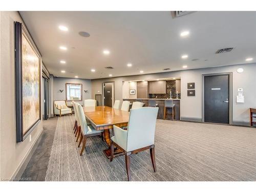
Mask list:
[[[238,68],[243,68],[243,73],[237,73]],[[134,75],[125,77],[113,77],[92,80],[92,96],[102,94],[103,81],[115,81],[115,99],[122,100],[122,82],[129,80],[150,80],[157,78],[180,77],[181,78],[181,118],[202,119],[202,75],[211,73],[232,72],[232,99],[233,99],[233,121],[249,122],[249,108],[256,107],[256,63],[243,65],[205,68],[195,70],[184,70],[167,73],[155,73],[146,75]],[[195,82],[196,96],[187,97],[187,83]],[[236,96],[238,88],[243,88],[245,102],[237,103]]]

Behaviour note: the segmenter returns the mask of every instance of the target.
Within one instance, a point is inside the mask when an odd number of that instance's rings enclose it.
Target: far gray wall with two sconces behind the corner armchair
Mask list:
[[[53,79],[53,82],[51,83],[51,105],[53,105],[54,100],[66,100],[66,83],[82,83],[82,100],[92,98],[92,83],[90,79],[53,77],[52,75],[51,79]],[[61,93],[59,90],[64,91]],[[84,93],[84,90],[88,90],[88,93]],[[80,104],[83,103],[83,101],[78,102]],[[53,114],[53,109],[51,110],[51,114]]]

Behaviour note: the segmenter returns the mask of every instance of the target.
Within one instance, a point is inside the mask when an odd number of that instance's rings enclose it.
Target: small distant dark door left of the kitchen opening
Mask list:
[[[104,82],[103,93],[104,105],[112,108],[114,105],[114,82]]]

